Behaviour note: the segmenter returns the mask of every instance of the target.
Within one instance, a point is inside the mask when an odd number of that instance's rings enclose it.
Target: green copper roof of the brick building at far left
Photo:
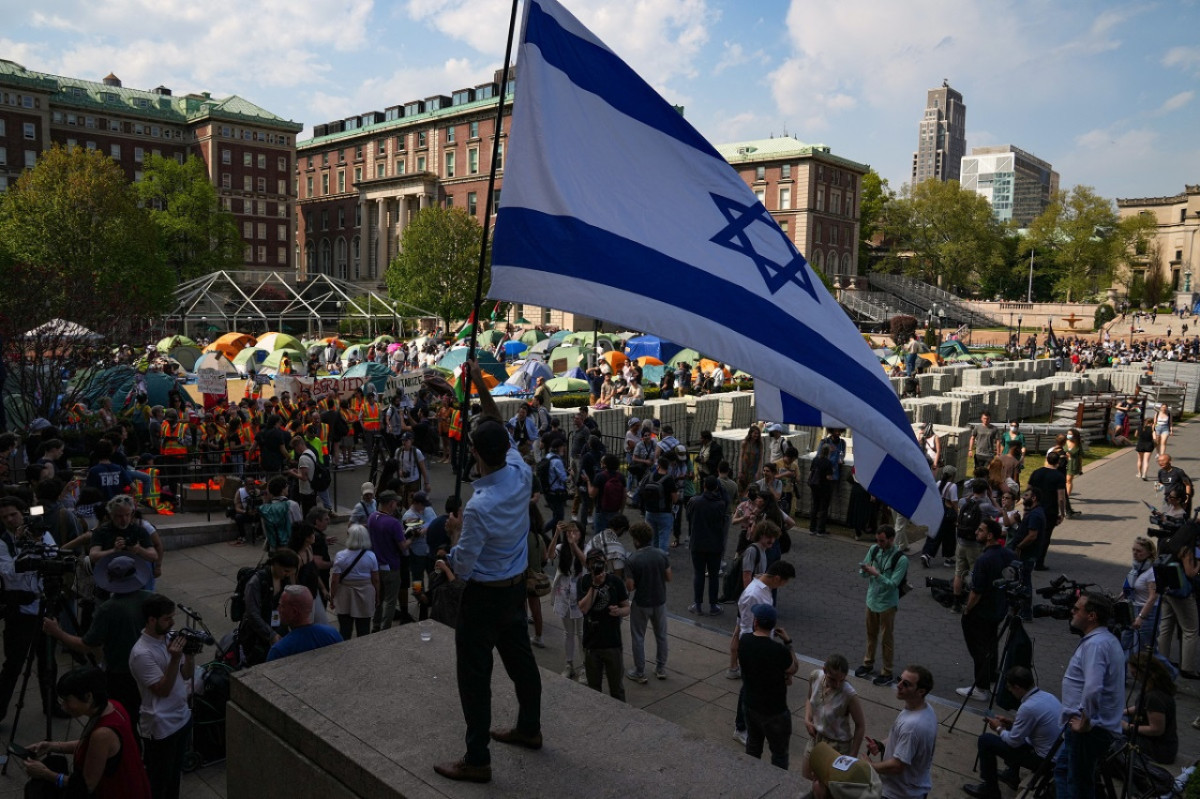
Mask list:
[[[0,60],[0,84],[28,86],[54,95],[54,103],[96,112],[127,112],[178,125],[211,116],[215,120],[246,122],[293,132],[304,125],[286,120],[236,95],[215,98],[208,94],[168,96],[143,89],[109,86],[96,80],[65,78],[26,70],[13,61]]]

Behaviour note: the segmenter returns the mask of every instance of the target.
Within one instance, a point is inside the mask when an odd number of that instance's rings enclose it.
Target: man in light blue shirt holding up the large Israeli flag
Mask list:
[[[464,364],[473,385],[484,385],[479,364]],[[455,546],[445,564],[466,583],[455,654],[458,698],[467,721],[467,752],[434,770],[450,780],[490,782],[491,739],[541,749],[541,674],[526,624],[524,572],[529,565],[529,497],[533,469],[521,457],[496,401],[479,396],[480,416],[470,425],[469,446],[480,476],[462,517],[446,517]],[[517,722],[491,731],[492,651],[499,650],[517,696]]]

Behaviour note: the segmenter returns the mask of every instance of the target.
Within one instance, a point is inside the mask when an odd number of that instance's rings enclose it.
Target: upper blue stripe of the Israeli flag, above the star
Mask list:
[[[546,62],[562,70],[576,86],[596,95],[622,114],[724,161],[713,145],[628,64],[564,29],[535,0],[529,2],[524,42],[535,46]]]

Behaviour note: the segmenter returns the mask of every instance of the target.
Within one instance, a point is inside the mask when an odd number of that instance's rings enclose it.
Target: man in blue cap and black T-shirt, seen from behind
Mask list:
[[[787,769],[792,739],[792,711],[787,685],[800,668],[792,638],[776,623],[775,606],[760,602],[750,608],[752,626],[738,641],[738,666],[745,690],[746,755],[762,757],[770,746],[770,763]]]

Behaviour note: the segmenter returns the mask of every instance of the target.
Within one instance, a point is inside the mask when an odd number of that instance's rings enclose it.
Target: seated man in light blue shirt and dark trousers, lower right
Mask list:
[[[1037,770],[1062,727],[1062,704],[1037,686],[1033,672],[1013,666],[1004,674],[1004,685],[1020,707],[1015,719],[988,716],[985,720],[991,732],[979,735],[979,779],[983,782],[962,786],[977,799],[1000,799],[1001,780],[1015,791],[1021,781],[1021,768]],[[1008,765],[1003,774],[996,771],[997,758]]]

